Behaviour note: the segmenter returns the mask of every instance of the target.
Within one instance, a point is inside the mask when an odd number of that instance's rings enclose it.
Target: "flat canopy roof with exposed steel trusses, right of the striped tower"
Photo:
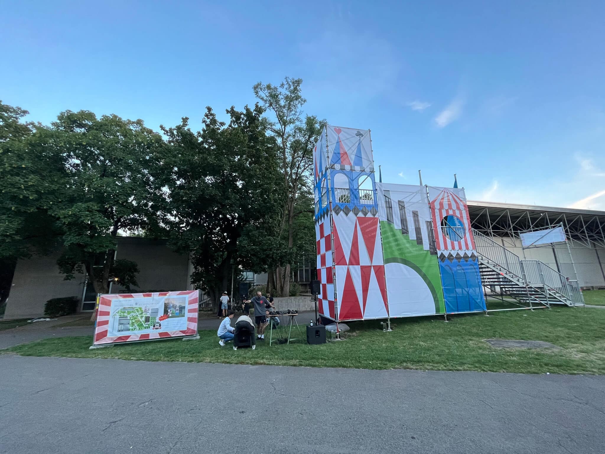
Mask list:
[[[523,231],[563,223],[572,248],[605,248],[605,211],[468,200],[468,212],[474,229],[505,241],[519,238]]]

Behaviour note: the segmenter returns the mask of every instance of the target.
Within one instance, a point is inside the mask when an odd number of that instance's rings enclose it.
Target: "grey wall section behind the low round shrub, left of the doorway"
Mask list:
[[[51,298],[77,297],[82,299],[84,275],[70,281],[59,273],[57,258],[60,252],[19,260],[8,295],[4,320],[33,318],[44,315],[44,304]]]

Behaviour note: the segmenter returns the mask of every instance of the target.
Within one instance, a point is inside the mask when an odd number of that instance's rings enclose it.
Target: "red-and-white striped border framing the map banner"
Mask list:
[[[180,331],[160,331],[148,334],[132,334],[128,336],[108,337],[108,325],[110,324],[111,301],[122,298],[152,298],[187,295],[187,329]],[[197,334],[197,315],[200,293],[197,290],[182,292],[159,292],[159,293],[131,293],[116,295],[101,295],[99,297],[99,309],[97,321],[94,325],[93,345],[114,344],[123,342],[134,342],[142,340],[163,339],[169,337],[183,337]]]

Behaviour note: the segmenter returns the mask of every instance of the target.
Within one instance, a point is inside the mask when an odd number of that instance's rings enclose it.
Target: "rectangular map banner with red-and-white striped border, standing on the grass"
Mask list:
[[[93,345],[197,335],[199,291],[100,295]]]

